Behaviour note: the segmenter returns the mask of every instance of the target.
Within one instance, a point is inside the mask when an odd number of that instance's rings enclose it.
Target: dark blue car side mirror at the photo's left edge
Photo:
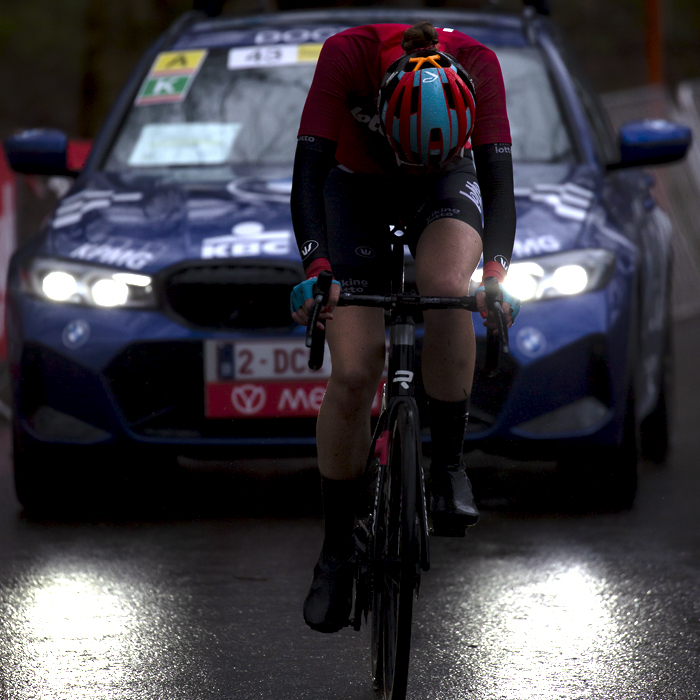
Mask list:
[[[10,167],[25,175],[76,175],[68,168],[68,137],[55,129],[31,129],[5,139]]]

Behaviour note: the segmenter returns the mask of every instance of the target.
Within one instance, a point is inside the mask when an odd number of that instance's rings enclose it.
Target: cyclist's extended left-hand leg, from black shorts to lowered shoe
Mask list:
[[[377,245],[380,232],[372,230],[363,207],[368,196],[364,179],[337,170],[329,175],[326,208],[331,264],[346,291],[377,291],[374,285],[386,257]],[[333,316],[326,326],[331,377],[317,423],[324,545],[304,604],[307,624],[323,632],[337,631],[350,614],[354,514],[385,347],[381,310],[341,307]]]

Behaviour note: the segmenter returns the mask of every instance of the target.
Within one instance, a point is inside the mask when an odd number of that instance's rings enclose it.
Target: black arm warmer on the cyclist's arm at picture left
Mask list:
[[[300,136],[292,176],[292,224],[304,269],[318,258],[328,259],[323,187],[335,165],[337,144],[318,136]]]

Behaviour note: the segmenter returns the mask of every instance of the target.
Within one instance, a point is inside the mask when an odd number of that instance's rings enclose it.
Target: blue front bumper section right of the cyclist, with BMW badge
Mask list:
[[[631,311],[619,296],[613,303],[610,290],[526,304],[494,378],[478,371],[485,343],[477,331],[467,449],[556,459],[576,445],[619,444],[632,376]]]

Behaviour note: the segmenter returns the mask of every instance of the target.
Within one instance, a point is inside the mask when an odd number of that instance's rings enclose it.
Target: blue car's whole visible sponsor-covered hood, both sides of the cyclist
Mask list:
[[[588,224],[599,209],[599,186],[590,168],[516,166],[513,259],[595,245]],[[300,264],[290,191],[289,169],[243,173],[222,184],[93,174],[59,203],[40,254],[149,274],[184,260]]]

